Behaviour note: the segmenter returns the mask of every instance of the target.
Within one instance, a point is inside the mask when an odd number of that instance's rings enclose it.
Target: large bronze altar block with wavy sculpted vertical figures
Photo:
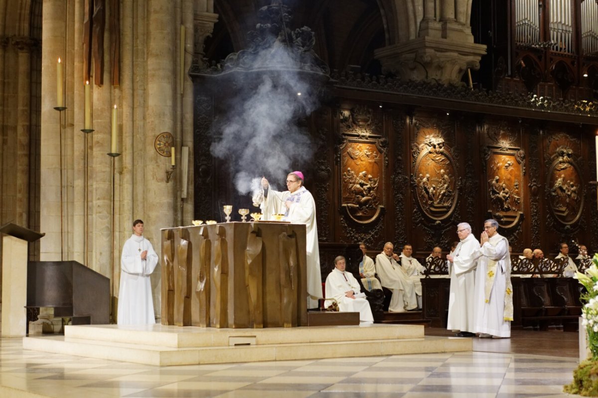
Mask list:
[[[162,324],[307,326],[305,225],[162,229]]]

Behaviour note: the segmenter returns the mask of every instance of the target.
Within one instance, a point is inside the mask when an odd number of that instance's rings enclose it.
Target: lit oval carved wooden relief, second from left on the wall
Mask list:
[[[441,221],[453,214],[457,203],[457,165],[437,125],[419,121],[417,127],[423,140],[411,146],[415,198],[429,219]]]

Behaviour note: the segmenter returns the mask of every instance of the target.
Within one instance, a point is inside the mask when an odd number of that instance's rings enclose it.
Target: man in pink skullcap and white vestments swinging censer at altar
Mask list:
[[[283,220],[292,224],[306,225],[307,246],[307,308],[317,308],[322,297],[322,274],[318,247],[318,226],[316,225],[316,203],[312,194],[303,186],[303,173],[292,172],[286,176],[288,191],[269,189],[266,177],[261,179],[262,198],[260,209],[264,220],[271,220],[274,214],[285,215]],[[255,201],[255,198],[254,198]]]

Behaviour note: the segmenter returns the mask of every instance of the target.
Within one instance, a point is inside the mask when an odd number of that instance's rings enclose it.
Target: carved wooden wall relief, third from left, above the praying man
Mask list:
[[[484,148],[487,209],[502,228],[513,228],[523,215],[525,154],[518,133],[507,124],[487,125]]]

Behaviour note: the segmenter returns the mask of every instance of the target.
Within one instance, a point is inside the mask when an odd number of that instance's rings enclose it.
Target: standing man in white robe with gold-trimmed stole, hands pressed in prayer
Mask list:
[[[484,222],[480,258],[475,273],[475,332],[480,337],[511,337],[513,301],[509,242],[498,233],[498,222]]]

